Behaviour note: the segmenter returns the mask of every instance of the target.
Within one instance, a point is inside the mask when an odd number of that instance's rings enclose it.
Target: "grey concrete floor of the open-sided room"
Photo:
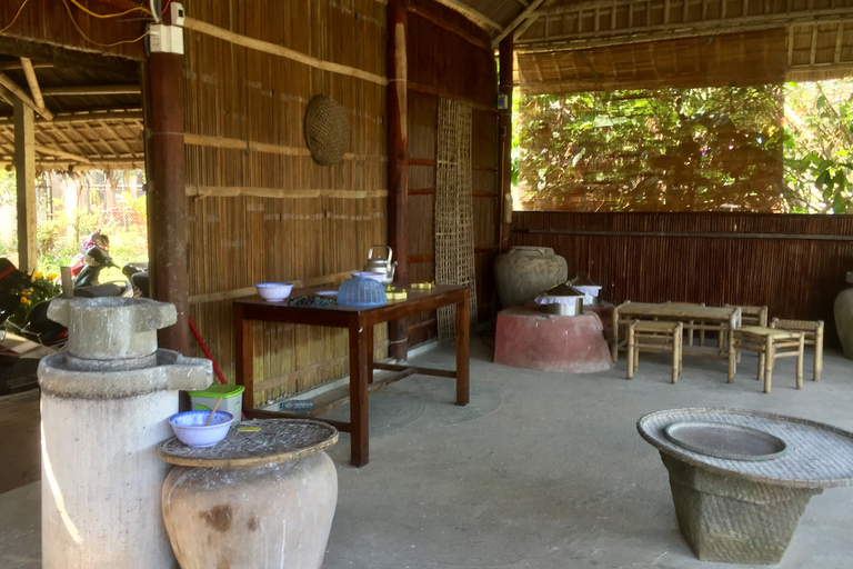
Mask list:
[[[664,357],[643,355],[632,381],[622,379],[623,359],[578,376],[491,359],[474,340],[464,408],[452,405],[452,382],[440,378],[412,377],[371,396],[371,462],[349,466],[343,433],[329,452],[340,496],[325,569],[736,567],[693,556],[636,419],[666,408],[739,407],[853,430],[853,362],[836,353],[826,355],[823,380],[802,391],[793,389],[793,362],[783,360],[771,395],[754,380],[751,356],[733,385],[724,361],[688,359],[674,386]],[[454,365],[445,348],[417,361]],[[0,567],[40,567],[39,493],[31,483],[0,496]],[[779,567],[849,569],[852,506],[850,488],[815,497]]]

